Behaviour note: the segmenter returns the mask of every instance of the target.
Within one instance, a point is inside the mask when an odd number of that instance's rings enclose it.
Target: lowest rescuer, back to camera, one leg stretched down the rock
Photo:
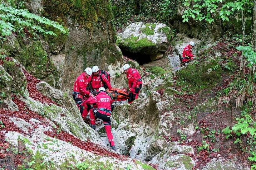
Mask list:
[[[111,120],[110,120],[112,100],[110,96],[106,93],[105,88],[100,87],[99,93],[95,97],[90,97],[86,101],[86,104],[88,105],[96,104],[97,106],[96,108],[93,108],[90,110],[91,128],[93,128],[94,130],[96,129],[95,127],[96,118],[103,120],[111,149],[116,151],[114,138],[111,132]]]

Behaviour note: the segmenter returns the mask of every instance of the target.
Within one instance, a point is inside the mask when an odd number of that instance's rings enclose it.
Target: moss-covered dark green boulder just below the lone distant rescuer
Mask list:
[[[222,68],[215,59],[201,62],[199,65],[190,63],[177,73],[180,80],[185,80],[197,87],[210,88],[219,83],[222,79]]]

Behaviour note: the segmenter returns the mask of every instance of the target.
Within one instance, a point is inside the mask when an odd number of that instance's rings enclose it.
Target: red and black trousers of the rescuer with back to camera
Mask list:
[[[97,110],[97,108],[90,109],[91,125],[95,125],[95,119],[96,118],[99,118],[99,119],[103,120],[103,123],[104,123],[104,126],[105,126],[105,130],[106,130],[106,134],[107,134],[107,137],[108,137],[108,141],[109,141],[111,146],[115,146],[114,137],[113,137],[113,134],[111,132],[110,115],[111,115],[110,113],[106,113],[106,114],[100,113]]]

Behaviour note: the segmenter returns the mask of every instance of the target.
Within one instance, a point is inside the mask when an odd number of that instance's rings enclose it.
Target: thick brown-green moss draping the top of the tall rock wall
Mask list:
[[[67,25],[67,17],[75,19],[81,26],[93,32],[98,23],[112,25],[110,1],[101,0],[43,0],[44,16]]]

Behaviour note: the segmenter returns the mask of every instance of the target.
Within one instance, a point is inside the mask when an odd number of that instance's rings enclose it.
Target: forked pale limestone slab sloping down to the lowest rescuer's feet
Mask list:
[[[54,104],[49,106],[28,98],[25,102],[31,110],[41,115],[45,115],[50,120],[57,122],[57,125],[62,127],[63,130],[72,133],[81,139],[86,140],[89,138],[93,141],[100,140],[97,138],[98,136],[95,131],[84,123],[75,102],[65,92],[51,87],[46,82],[37,83],[37,89],[45,96],[56,101],[62,107]]]

